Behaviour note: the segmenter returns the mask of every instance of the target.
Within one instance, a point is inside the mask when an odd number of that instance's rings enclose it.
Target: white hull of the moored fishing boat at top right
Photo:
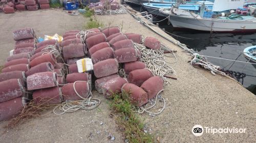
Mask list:
[[[215,32],[253,32],[256,31],[256,20],[225,20],[217,18],[202,18],[195,14],[176,15],[170,11],[163,11],[174,28],[194,29]]]

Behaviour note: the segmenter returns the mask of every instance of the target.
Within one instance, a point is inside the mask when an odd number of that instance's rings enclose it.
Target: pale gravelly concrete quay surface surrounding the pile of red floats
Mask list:
[[[24,20],[14,24],[17,21],[16,17],[22,19],[23,16]],[[1,13],[0,18],[0,23],[4,25],[0,27],[4,32],[0,35],[0,48],[3,51],[0,53],[1,64],[4,63],[8,52],[13,49],[14,41],[11,32],[15,29],[32,27],[37,31],[38,36],[43,36],[81,29],[83,25],[82,16],[69,16],[61,10],[22,12],[11,15]],[[30,18],[33,22],[29,22]],[[187,63],[190,56],[180,47],[142,26],[130,14],[96,16],[96,18],[105,26],[110,24],[121,27],[123,33],[133,32],[145,37],[156,37],[171,49],[177,50],[178,62],[169,65],[176,70],[175,77],[178,80],[170,80],[171,84],[164,87],[162,96],[166,101],[166,108],[163,113],[157,116],[142,114],[147,125],[145,132],[159,136],[160,142],[256,141],[254,94],[228,78],[213,76],[209,71],[192,67]],[[163,33],[157,27],[154,29]],[[173,58],[167,58],[167,60],[174,61]],[[42,117],[29,120],[18,129],[9,130],[0,136],[0,140],[1,142],[108,142],[106,136],[110,132],[116,137],[115,142],[123,142],[121,134],[116,131],[113,119],[109,117],[110,111],[106,100],[97,93],[94,93],[94,96],[102,99],[98,109],[60,116],[49,111]],[[158,105],[161,104],[158,103]],[[100,125],[101,122],[104,123],[103,126]],[[5,124],[6,122],[0,123],[0,126],[3,127]],[[195,136],[191,130],[197,124],[209,128],[246,128],[246,133],[204,133],[202,136]],[[0,132],[3,131],[1,127]],[[101,134],[97,134],[98,130]],[[93,135],[92,140],[89,137],[90,132]]]

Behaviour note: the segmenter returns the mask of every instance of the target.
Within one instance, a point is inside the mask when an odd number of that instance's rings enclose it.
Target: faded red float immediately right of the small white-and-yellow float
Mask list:
[[[101,78],[116,74],[118,72],[118,62],[116,59],[106,59],[93,65],[96,78]]]

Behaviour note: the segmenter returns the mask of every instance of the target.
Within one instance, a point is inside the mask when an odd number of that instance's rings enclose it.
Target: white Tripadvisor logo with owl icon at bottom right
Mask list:
[[[245,133],[246,129],[242,128],[212,128],[212,127],[202,127],[201,125],[195,125],[192,128],[192,133],[195,136],[201,136],[203,133],[210,133],[210,134],[216,134],[216,133]]]

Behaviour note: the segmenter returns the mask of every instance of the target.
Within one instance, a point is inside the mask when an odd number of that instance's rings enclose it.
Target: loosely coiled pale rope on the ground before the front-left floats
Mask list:
[[[80,109],[81,110],[92,110],[92,109],[94,109],[94,108],[99,106],[99,104],[101,102],[100,99],[96,99],[96,98],[93,99],[92,98],[91,82],[88,82],[89,83],[89,87],[90,87],[90,89],[89,89],[90,93],[88,95],[89,98],[88,97],[87,98],[83,98],[77,92],[77,90],[75,88],[75,84],[77,82],[87,82],[87,81],[75,81],[74,84],[73,84],[73,89],[74,89],[76,95],[79,98],[83,99],[83,100],[77,100],[77,101],[68,101],[67,100],[67,101],[63,102],[62,104],[56,106],[53,109],[53,113],[54,114],[61,115],[61,114],[64,114],[66,112],[71,113],[71,112],[75,112],[75,111],[80,110]],[[57,109],[60,111],[60,113],[56,112]]]

